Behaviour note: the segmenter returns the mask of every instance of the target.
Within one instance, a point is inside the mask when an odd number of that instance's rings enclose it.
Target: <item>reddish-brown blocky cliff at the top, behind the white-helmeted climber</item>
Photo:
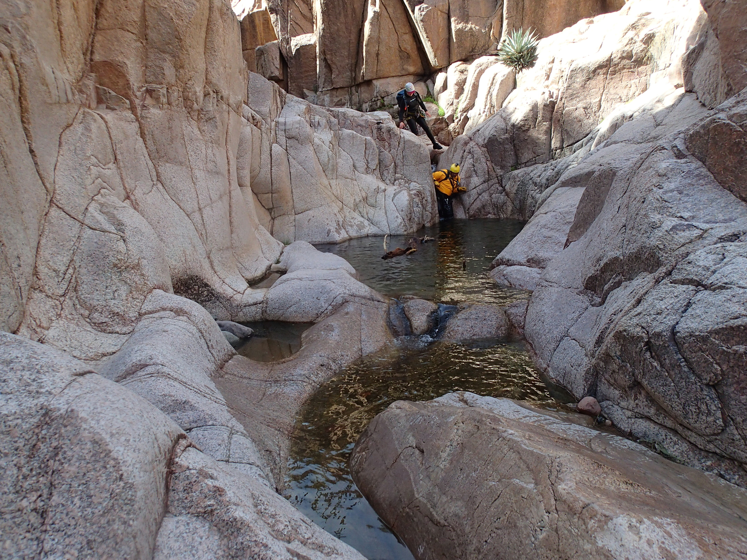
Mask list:
[[[539,37],[548,37],[623,4],[624,0],[560,1],[549,6],[538,0],[268,0],[266,6],[237,2],[235,11],[246,28],[255,28],[258,19],[272,19],[277,43],[262,43],[263,34],[244,35],[245,52],[255,49],[263,57],[271,52],[268,56],[274,62],[267,70],[258,66],[258,72],[319,105],[372,111],[394,105],[392,94],[407,81],[422,81],[425,90],[438,69],[495,54],[506,31],[531,28]],[[433,94],[433,84],[429,89]]]

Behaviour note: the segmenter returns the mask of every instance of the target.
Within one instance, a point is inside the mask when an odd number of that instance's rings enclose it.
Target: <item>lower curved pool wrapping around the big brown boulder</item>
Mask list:
[[[369,560],[412,559],[356,488],[347,460],[371,419],[395,400],[429,400],[451,391],[555,405],[521,343],[478,348],[403,337],[311,396],[291,443],[286,497]]]

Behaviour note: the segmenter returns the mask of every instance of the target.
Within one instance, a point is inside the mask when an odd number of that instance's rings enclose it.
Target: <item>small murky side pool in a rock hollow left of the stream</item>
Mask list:
[[[301,335],[314,323],[258,321],[241,323],[254,331],[236,346],[236,353],[254,361],[278,361],[290,358],[301,349]]]

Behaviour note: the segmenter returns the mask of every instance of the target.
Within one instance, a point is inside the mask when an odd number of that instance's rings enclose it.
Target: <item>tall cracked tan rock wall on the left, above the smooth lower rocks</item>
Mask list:
[[[303,214],[300,235],[320,241],[433,220],[427,150],[391,119],[379,127],[354,111],[314,113],[258,75],[249,80],[241,26],[223,1],[152,2],[146,22],[140,8],[105,2],[53,25],[37,8],[9,5],[16,23],[3,40],[4,329],[23,323],[24,335],[72,349],[75,323],[101,335],[102,357],[131,332],[133,312],[123,310],[153,289],[251,320],[262,294],[247,281],[282,249],[268,228],[292,241]],[[128,46],[140,33],[147,55]],[[305,156],[288,155],[295,144]],[[277,217],[285,223],[275,229]],[[104,312],[103,299],[117,304]]]

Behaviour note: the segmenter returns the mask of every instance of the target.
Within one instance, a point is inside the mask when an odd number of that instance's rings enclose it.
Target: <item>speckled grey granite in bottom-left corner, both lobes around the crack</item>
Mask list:
[[[223,426],[188,437],[82,361],[4,332],[0,371],[3,558],[362,560],[241,463],[252,444],[238,424],[222,456]],[[219,408],[192,417],[217,423]]]

